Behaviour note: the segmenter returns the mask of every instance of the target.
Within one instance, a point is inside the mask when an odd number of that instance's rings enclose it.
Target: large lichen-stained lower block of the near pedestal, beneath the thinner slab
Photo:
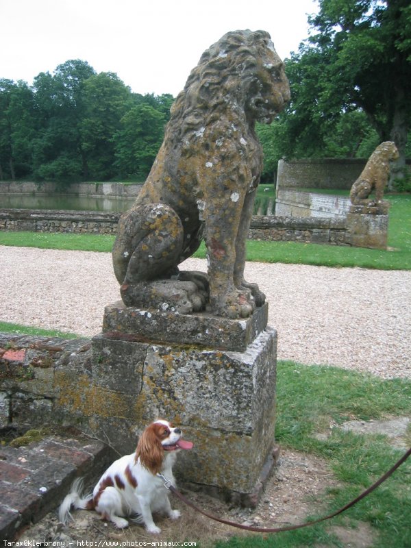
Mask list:
[[[276,346],[271,328],[245,351],[119,340],[103,333],[92,340],[95,426],[101,435],[112,432],[112,443],[125,453],[134,449],[132,432],[140,434],[158,417],[169,419],[195,444],[181,451],[177,475],[247,499],[273,451]],[[118,404],[110,417],[107,397]]]

